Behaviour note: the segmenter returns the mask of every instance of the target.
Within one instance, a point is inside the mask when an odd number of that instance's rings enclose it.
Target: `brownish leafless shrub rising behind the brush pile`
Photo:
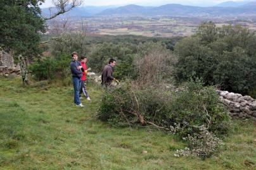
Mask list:
[[[138,70],[138,83],[159,85],[174,76],[177,57],[161,44],[148,42],[138,47],[135,65]],[[168,82],[167,81],[167,82]]]

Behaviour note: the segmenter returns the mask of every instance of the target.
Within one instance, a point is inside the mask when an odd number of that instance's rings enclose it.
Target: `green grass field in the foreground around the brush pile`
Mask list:
[[[234,120],[225,148],[209,159],[174,157],[184,143],[173,135],[96,120],[101,90],[88,91],[82,109],[71,86],[25,88],[0,77],[0,169],[256,169],[253,121]]]

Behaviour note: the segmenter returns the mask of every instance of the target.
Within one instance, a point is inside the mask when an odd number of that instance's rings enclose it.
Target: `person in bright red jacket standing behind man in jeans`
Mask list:
[[[81,66],[82,66],[82,77],[81,77],[81,88],[80,88],[80,94],[84,94],[84,97],[86,97],[87,100],[91,100],[87,90],[86,90],[86,73],[88,72],[86,68],[87,58],[85,56],[81,57]]]

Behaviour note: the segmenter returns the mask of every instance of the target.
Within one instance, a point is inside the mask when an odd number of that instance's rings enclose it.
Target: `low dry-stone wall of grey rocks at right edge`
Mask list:
[[[217,90],[221,102],[227,106],[231,116],[256,121],[256,100],[248,95]]]

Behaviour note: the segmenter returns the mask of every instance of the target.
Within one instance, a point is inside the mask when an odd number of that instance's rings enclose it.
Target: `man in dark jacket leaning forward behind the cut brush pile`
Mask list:
[[[113,67],[115,66],[116,61],[115,59],[110,59],[108,61],[108,64],[104,67],[102,74],[101,74],[101,84],[108,86],[112,83],[115,78],[113,78],[112,73],[113,73]]]

